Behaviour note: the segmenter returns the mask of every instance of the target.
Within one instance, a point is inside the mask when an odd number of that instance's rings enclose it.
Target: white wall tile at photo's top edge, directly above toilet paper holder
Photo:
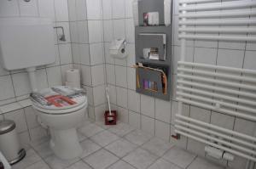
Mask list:
[[[113,19],[125,18],[125,0],[112,0]]]

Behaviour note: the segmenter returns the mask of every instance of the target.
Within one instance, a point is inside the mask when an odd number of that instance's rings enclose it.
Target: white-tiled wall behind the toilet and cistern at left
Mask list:
[[[48,17],[53,20],[53,25],[64,26],[67,41],[58,41],[57,35],[61,34],[61,30],[55,30],[56,61],[52,65],[39,67],[37,80],[38,88],[61,85],[65,82],[65,70],[71,68],[73,63],[67,0],[31,0],[29,3],[24,0],[1,0],[0,17]],[[25,70],[6,71],[0,65],[0,119],[15,120],[17,131],[24,143],[30,139],[42,138],[46,134],[38,125],[30,104],[26,103],[27,100],[20,101],[27,99],[30,92]]]

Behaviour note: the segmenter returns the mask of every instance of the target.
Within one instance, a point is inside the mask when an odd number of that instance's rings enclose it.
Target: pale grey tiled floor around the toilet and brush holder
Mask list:
[[[49,138],[31,143],[14,169],[222,169],[125,123],[114,127],[85,121],[79,128],[84,153],[63,161],[49,149]]]

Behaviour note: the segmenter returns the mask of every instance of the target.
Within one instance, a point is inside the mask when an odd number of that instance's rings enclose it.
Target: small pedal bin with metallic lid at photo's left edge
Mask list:
[[[15,121],[0,121],[0,151],[10,165],[21,161],[26,155],[25,149],[20,147],[15,128]]]

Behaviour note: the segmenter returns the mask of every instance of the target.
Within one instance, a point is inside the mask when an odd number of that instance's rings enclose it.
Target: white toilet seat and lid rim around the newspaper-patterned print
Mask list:
[[[61,88],[65,88],[66,86],[59,86]],[[67,87],[68,89],[73,89],[72,87]],[[38,93],[50,93],[52,92],[51,88],[45,88],[41,91],[39,91]],[[79,96],[76,96],[74,98],[71,99],[72,101],[74,101],[76,104],[72,104],[72,105],[65,105],[62,107],[56,107],[55,105],[51,104],[51,105],[44,105],[44,104],[38,104],[38,102],[32,101],[32,106],[34,109],[45,113],[45,114],[50,114],[50,115],[63,115],[63,114],[69,114],[69,113],[73,113],[74,111],[83,109],[84,106],[87,106],[87,97],[85,94],[79,94]]]

